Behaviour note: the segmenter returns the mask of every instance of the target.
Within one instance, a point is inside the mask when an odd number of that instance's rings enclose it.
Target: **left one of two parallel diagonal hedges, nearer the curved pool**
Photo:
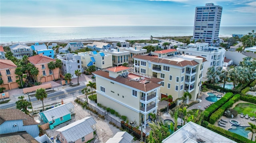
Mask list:
[[[214,113],[218,108],[225,104],[234,94],[232,92],[226,93],[220,100],[214,102],[210,107],[208,107],[204,112],[204,120],[209,121],[209,117]]]

